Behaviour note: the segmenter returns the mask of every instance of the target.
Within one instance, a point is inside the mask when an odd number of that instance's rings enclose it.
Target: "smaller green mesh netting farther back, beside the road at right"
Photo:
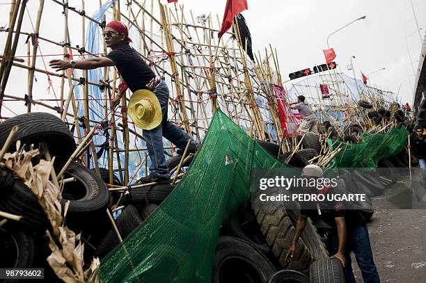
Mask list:
[[[329,167],[375,168],[379,160],[395,156],[404,149],[407,138],[408,131],[404,127],[393,128],[389,134],[362,134],[361,143],[345,143],[330,138],[327,142],[331,149],[340,145],[342,150]]]

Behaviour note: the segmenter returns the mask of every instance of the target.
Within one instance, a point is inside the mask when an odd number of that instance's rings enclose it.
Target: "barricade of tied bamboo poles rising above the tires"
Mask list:
[[[93,22],[99,26],[98,29],[104,27],[104,22],[110,19],[123,19],[125,24],[129,26],[132,33],[134,45],[139,44],[137,49],[142,58],[152,64],[155,72],[163,76],[169,88],[171,89],[171,98],[169,109],[169,119],[178,124],[190,136],[198,142],[203,140],[203,136],[209,127],[209,122],[212,118],[214,110],[220,108],[232,120],[235,121],[246,132],[253,137],[265,140],[265,133],[268,136],[275,136],[275,142],[281,145],[281,151],[292,151],[297,142],[285,138],[283,125],[278,117],[278,108],[276,106],[276,97],[274,95],[274,84],[284,86],[283,79],[278,63],[278,53],[271,45],[265,47],[265,54],[255,54],[255,62],[248,62],[245,54],[246,46],[240,45],[240,35],[236,32],[235,40],[231,38],[231,32],[223,35],[221,40],[216,40],[215,36],[221,21],[216,15],[216,21],[213,17],[198,17],[198,24],[191,10],[189,10],[188,19],[184,13],[184,6],[167,6],[161,3],[152,1],[116,1],[111,8],[113,17],[107,13],[102,17],[102,20],[97,20],[90,17],[90,13],[85,10],[85,1],[81,0],[81,7],[70,7],[68,0],[53,2],[58,6],[58,13],[63,12],[63,42],[55,42],[47,37],[47,33],[43,31],[40,23],[42,22],[44,2],[38,3],[36,12],[37,19],[34,27],[34,33],[21,31],[23,11],[25,6],[23,1],[11,1],[9,26],[7,29],[0,29],[0,32],[7,33],[6,45],[1,55],[0,62],[0,78],[1,86],[5,85],[4,79],[7,77],[8,66],[13,70],[21,68],[28,71],[27,79],[28,86],[27,98],[20,98],[18,95],[5,95],[4,88],[1,89],[0,99],[1,104],[15,104],[26,102],[26,111],[33,111],[33,108],[45,108],[48,111],[57,111],[61,115],[61,119],[74,128],[74,136],[76,136],[79,144],[79,152],[76,156],[84,154],[84,163],[95,168],[109,168],[109,181],[112,184],[113,172],[119,172],[120,179],[124,184],[129,183],[129,175],[138,177],[143,175],[148,170],[148,162],[146,152],[143,152],[145,147],[139,149],[139,146],[131,146],[131,143],[139,144],[143,141],[141,130],[132,129],[132,121],[127,121],[126,104],[127,99],[122,99],[121,111],[111,111],[107,100],[113,99],[118,92],[116,88],[116,80],[118,78],[116,70],[109,67],[104,67],[102,79],[99,81],[88,81],[87,71],[82,72],[81,78],[78,78],[76,73],[72,72],[52,72],[45,70],[40,66],[40,60],[37,57],[44,56],[40,53],[40,47],[43,45],[51,45],[56,48],[61,48],[61,52],[56,52],[56,55],[61,54],[63,58],[68,58],[72,51],[77,51],[81,58],[85,56],[102,56],[107,54],[107,47],[102,46],[98,51],[87,51],[84,49],[86,42],[86,23]],[[102,6],[102,1],[99,1],[99,7]],[[126,5],[126,6],[123,6]],[[19,10],[21,9],[21,10]],[[127,10],[127,13],[125,13]],[[158,15],[158,17],[157,17]],[[70,19],[72,17],[72,19]],[[76,17],[81,17],[81,21],[74,21]],[[26,19],[23,19],[24,21]],[[76,44],[74,38],[70,37],[70,29],[68,22],[72,20],[73,27],[81,23],[81,41]],[[59,26],[61,27],[61,26]],[[234,31],[239,31],[238,26],[235,26]],[[40,33],[40,34],[39,34]],[[74,33],[74,30],[73,30]],[[138,33],[138,37],[134,34]],[[159,33],[159,34],[156,34]],[[36,44],[32,50],[30,45],[26,45],[26,56],[20,56],[15,48],[15,44],[19,38],[24,36],[36,35]],[[139,42],[139,43],[138,43]],[[237,44],[237,46],[235,46]],[[46,56],[52,56],[48,54]],[[18,60],[26,59],[27,62],[19,62]],[[45,102],[38,99],[36,93],[35,77],[50,76],[54,80],[56,86],[60,86],[61,95],[56,102],[60,105],[60,109],[52,105],[52,102]],[[75,76],[75,77],[74,77]],[[359,122],[364,130],[374,126],[378,131],[385,131],[389,122],[381,122],[381,124],[372,124],[368,120],[363,109],[356,106],[356,102],[352,99],[352,94],[348,90],[345,82],[341,79],[341,74],[337,70],[332,72],[324,72],[319,75],[322,83],[329,84],[333,99],[324,100],[319,94],[318,86],[303,86],[302,83],[294,83],[294,88],[298,94],[305,95],[308,99],[312,99],[315,110],[319,111],[321,122],[331,120],[333,124],[345,123],[349,126],[349,121]],[[110,79],[112,78],[112,79]],[[68,81],[68,83],[65,83]],[[83,86],[77,85],[83,84]],[[93,98],[93,93],[88,86],[102,88],[102,118],[93,115],[90,105],[90,100]],[[80,97],[77,95],[77,90],[81,90]],[[377,108],[381,97],[374,95],[371,90],[361,91],[361,99],[370,98],[374,101],[374,108]],[[294,97],[286,97],[287,100],[292,100]],[[53,101],[53,100],[52,100]],[[264,102],[265,105],[258,104]],[[210,105],[209,105],[210,104]],[[36,105],[32,107],[32,105]],[[0,105],[1,107],[1,105]],[[345,117],[340,120],[333,120],[328,113],[329,107],[345,113]],[[70,109],[71,108],[71,109]],[[8,111],[8,110],[3,110]],[[1,115],[0,118],[4,117]],[[4,113],[4,112],[3,112]],[[82,114],[79,114],[82,113]],[[8,115],[10,113],[8,112]],[[81,115],[81,117],[79,117]],[[71,118],[71,120],[70,120]],[[82,122],[81,122],[82,121]],[[107,122],[107,127],[99,127],[102,122]],[[392,122],[392,121],[390,121]],[[85,128],[85,132],[81,132],[81,126]],[[90,133],[99,134],[100,129],[107,129],[108,136],[105,136],[107,145],[96,144]],[[344,134],[338,129],[340,136]],[[95,130],[96,129],[96,130]],[[99,131],[98,131],[99,130]],[[101,159],[98,161],[97,149],[104,147],[107,152],[106,161]],[[172,148],[168,144],[165,149]],[[87,149],[87,151],[86,151]],[[322,148],[319,154],[331,154],[326,152],[326,148]],[[166,150],[166,154],[170,150]],[[141,154],[139,154],[141,153]],[[120,154],[124,156],[124,163],[120,158]],[[139,156],[138,156],[139,155]],[[139,159],[135,162],[135,159]],[[73,159],[74,160],[74,159]],[[130,172],[129,163],[134,162],[139,164],[133,172]],[[323,156],[317,158],[318,162],[327,163],[329,159]],[[133,165],[132,165],[133,166]],[[97,169],[96,169],[97,170]]]

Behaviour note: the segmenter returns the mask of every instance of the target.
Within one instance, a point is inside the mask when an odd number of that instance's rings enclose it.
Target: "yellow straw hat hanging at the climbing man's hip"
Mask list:
[[[130,97],[127,113],[136,127],[144,130],[157,127],[163,116],[158,98],[150,90],[136,90]]]

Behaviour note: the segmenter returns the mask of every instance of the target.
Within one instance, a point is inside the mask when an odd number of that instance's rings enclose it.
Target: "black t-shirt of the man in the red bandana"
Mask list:
[[[118,72],[123,76],[132,92],[149,89],[146,84],[155,78],[155,74],[139,56],[138,52],[130,47],[129,44],[123,43],[119,45],[109,52],[107,58],[110,58],[116,64]]]

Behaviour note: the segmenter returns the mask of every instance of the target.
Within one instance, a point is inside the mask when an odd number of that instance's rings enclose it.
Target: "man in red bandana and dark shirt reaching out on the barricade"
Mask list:
[[[127,87],[135,92],[136,90],[151,90],[159,99],[161,105],[162,121],[158,127],[152,130],[143,130],[143,138],[148,148],[150,156],[150,175],[141,178],[141,183],[168,183],[170,172],[166,166],[162,137],[168,139],[181,150],[184,149],[190,140],[187,133],[178,128],[175,124],[167,120],[168,87],[161,78],[155,76],[150,67],[142,60],[141,56],[130,47],[129,32],[127,26],[122,22],[112,21],[104,29],[104,38],[107,47],[112,51],[105,57],[86,58],[83,60],[52,60],[49,65],[56,70],[67,70],[68,68],[90,70],[98,67],[116,66],[120,76],[125,82],[120,84],[120,95],[111,100],[111,108],[119,104],[121,97],[125,94]],[[189,153],[195,153],[196,143],[191,140]],[[179,151],[178,151],[179,152]]]

